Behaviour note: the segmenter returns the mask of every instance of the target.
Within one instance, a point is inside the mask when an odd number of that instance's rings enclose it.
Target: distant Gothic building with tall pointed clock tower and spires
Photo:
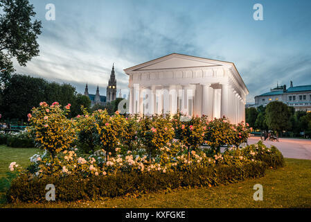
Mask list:
[[[120,90],[121,92],[121,90]],[[89,88],[85,87],[85,96],[88,96],[91,100],[91,107],[95,104],[106,105],[106,103],[116,100],[116,76],[114,74],[114,65],[112,65],[112,73],[107,86],[107,96],[100,96],[99,87],[97,86],[96,94],[89,94]]]

